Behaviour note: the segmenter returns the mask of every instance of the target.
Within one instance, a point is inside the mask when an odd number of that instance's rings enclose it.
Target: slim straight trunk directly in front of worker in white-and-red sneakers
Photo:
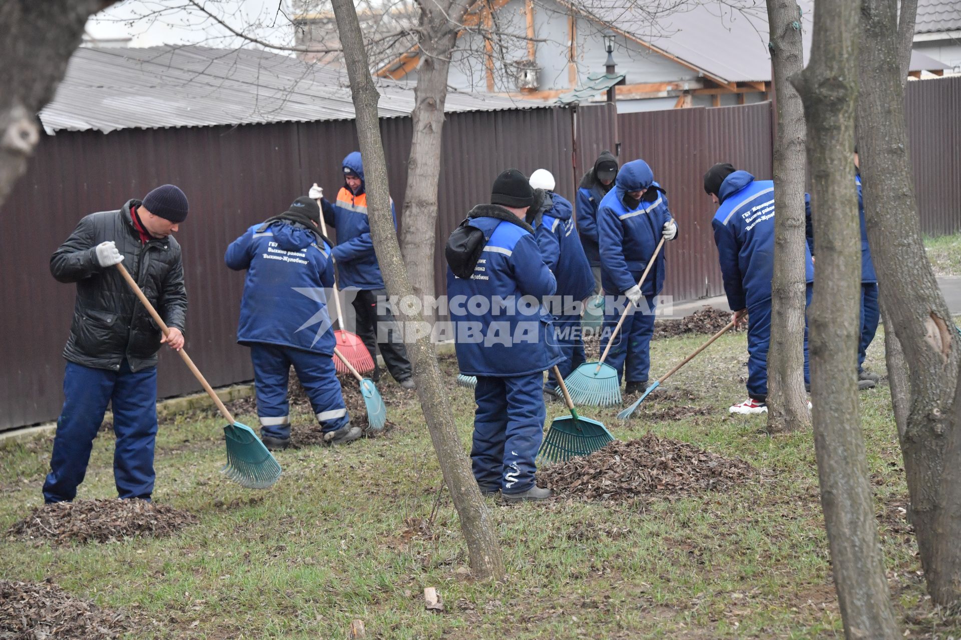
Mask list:
[[[768,0],[777,106],[775,140],[775,273],[771,280],[768,431],[809,427],[804,392],[804,107],[788,78],[804,67],[801,8]]]

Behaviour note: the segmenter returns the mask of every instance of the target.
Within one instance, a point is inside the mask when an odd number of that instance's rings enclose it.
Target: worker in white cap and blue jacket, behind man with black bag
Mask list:
[[[554,175],[547,169],[538,169],[530,174],[530,186],[534,189],[534,204],[528,209],[525,221],[533,227],[541,257],[557,280],[557,291],[546,300],[554,318],[554,334],[549,340],[564,356],[557,369],[561,377],[566,378],[585,360],[580,311],[583,300],[594,293],[594,275],[575,228],[574,207],[554,193]],[[559,400],[556,389],[552,368],[547,373],[544,397]]]

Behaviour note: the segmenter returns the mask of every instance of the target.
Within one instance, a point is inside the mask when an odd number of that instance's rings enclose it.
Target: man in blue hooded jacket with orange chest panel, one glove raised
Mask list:
[[[342,290],[353,289],[357,292],[352,300],[357,312],[355,328],[375,363],[371,379],[377,382],[381,378],[381,368],[377,366],[377,349],[380,347],[383,362],[390,374],[405,389],[413,389],[414,381],[404,337],[387,303],[387,290],[370,235],[360,152],[347,154],[341,169],[344,186],[337,192],[333,204],[323,198],[323,189],[319,187],[312,187],[308,195],[321,199],[324,221],[336,229],[337,244],[333,248],[333,259],[337,264],[338,284]],[[390,201],[390,215],[396,227],[397,213],[393,200]]]

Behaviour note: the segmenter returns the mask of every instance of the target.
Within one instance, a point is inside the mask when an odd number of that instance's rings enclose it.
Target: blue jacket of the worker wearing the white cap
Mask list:
[[[541,256],[557,280],[554,296],[561,298],[561,304],[568,301],[564,298],[583,300],[594,292],[594,274],[574,227],[573,213],[570,201],[545,191],[540,211],[532,220]],[[558,309],[552,312],[562,315]]]

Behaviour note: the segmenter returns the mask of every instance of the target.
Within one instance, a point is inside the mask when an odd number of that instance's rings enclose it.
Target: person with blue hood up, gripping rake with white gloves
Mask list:
[[[644,160],[632,160],[621,167],[615,187],[598,207],[601,239],[601,273],[607,296],[627,296],[623,304],[634,307],[621,331],[611,343],[607,364],[617,369],[618,381],[627,381],[625,391],[644,391],[651,368],[651,337],[654,332],[656,297],[664,286],[664,251],[653,258],[661,236],[674,240],[678,225],[668,209],[667,195]],[[641,274],[654,259],[643,283]],[[604,305],[604,332],[610,336],[621,319],[624,306]]]

